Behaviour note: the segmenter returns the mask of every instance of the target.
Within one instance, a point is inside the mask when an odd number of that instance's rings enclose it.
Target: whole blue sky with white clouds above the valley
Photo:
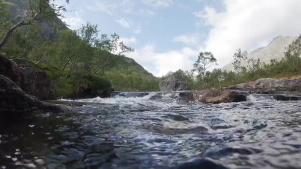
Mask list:
[[[201,51],[221,68],[238,48],[250,52],[301,34],[301,0],[70,0],[65,7],[70,29],[90,22],[117,33],[135,49],[126,56],[157,77],[191,70]]]

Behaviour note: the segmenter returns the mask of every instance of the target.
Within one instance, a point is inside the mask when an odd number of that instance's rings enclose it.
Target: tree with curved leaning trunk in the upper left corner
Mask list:
[[[69,0],[65,0],[69,3]],[[19,27],[30,25],[34,21],[42,21],[45,19],[51,19],[53,17],[62,16],[62,12],[66,11],[65,7],[62,5],[56,5],[54,0],[27,0],[29,4],[29,10],[25,18],[16,24],[10,25],[10,28],[3,35],[0,40],[0,49],[6,44],[9,40],[11,34]],[[3,6],[5,2],[0,0],[0,6]],[[1,7],[0,7],[1,9]]]

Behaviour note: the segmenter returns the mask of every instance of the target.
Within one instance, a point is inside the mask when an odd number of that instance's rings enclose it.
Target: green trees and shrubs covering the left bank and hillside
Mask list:
[[[59,97],[73,97],[81,86],[159,90],[158,78],[124,56],[134,49],[116,33],[99,34],[98,26],[90,23],[69,30],[57,18],[66,9],[54,0],[13,2],[0,0],[0,53],[21,66],[45,70]],[[27,15],[13,13],[13,8]]]

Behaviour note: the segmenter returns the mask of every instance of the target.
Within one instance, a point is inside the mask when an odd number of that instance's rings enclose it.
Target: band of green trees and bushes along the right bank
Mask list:
[[[191,72],[179,70],[175,74],[184,79],[192,89],[218,89],[260,78],[287,78],[301,75],[301,35],[289,45],[284,56],[280,61],[271,60],[271,63],[265,64],[260,62],[260,59],[247,58],[242,54],[241,49],[238,49],[233,56],[234,71],[227,72],[221,69],[207,71],[207,68],[216,63],[216,59],[210,52],[201,52]],[[249,65],[243,66],[241,64],[243,60],[248,61]],[[194,74],[195,72],[197,74]],[[168,77],[163,77],[165,78]]]

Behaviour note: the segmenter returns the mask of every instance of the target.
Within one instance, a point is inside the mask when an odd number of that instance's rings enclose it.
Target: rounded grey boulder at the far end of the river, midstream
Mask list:
[[[161,91],[187,90],[187,84],[181,78],[174,76],[161,81],[159,87]]]

